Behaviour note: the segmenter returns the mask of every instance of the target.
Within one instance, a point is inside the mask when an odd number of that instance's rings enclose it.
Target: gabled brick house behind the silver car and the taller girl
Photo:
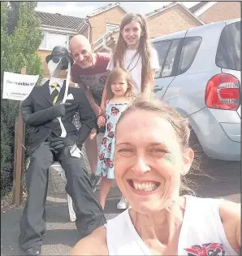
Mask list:
[[[171,2],[146,14],[145,17],[150,37],[156,38],[211,22],[240,18],[240,5],[240,2],[199,2],[188,9],[181,2]],[[104,46],[113,50],[118,37],[119,29],[102,35],[94,43],[95,51],[103,51]]]

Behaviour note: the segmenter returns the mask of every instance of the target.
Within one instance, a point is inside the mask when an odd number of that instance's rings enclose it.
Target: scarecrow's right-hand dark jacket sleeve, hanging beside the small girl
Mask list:
[[[84,94],[84,91],[80,91],[79,116],[81,126],[79,130],[78,144],[83,144],[94,127],[93,111],[92,108],[90,108],[89,101]]]

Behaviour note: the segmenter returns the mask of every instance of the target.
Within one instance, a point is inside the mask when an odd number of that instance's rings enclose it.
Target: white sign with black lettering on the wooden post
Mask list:
[[[4,72],[2,99],[24,100],[36,85],[39,76]]]

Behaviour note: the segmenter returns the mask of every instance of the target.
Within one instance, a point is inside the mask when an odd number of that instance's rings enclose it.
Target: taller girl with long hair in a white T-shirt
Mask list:
[[[146,20],[142,15],[129,13],[123,18],[117,46],[106,69],[114,67],[126,68],[130,73],[134,95],[152,95],[154,70],[159,69],[159,61],[157,52],[150,44]],[[106,87],[102,94],[102,113],[105,113],[105,103]],[[123,196],[117,207],[127,208]]]

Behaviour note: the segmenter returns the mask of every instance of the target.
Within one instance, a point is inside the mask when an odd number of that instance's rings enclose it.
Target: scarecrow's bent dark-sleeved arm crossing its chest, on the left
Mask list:
[[[58,114],[60,114],[58,111],[58,106],[52,106],[33,113],[32,93],[28,95],[28,98],[24,99],[23,103],[21,104],[21,111],[23,119],[28,126],[41,126],[47,121],[51,121],[55,117],[58,117]]]

